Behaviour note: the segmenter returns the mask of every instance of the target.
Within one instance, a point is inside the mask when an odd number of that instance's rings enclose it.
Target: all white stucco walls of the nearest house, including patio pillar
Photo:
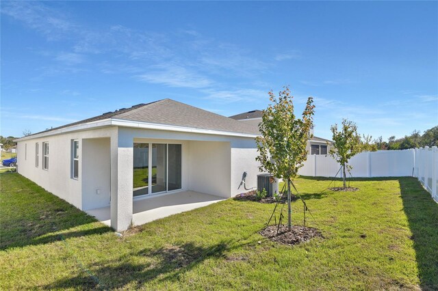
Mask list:
[[[73,139],[79,140],[77,179],[71,176]],[[42,169],[42,142],[49,143],[48,171]],[[134,142],[181,143],[183,190],[231,197],[244,192],[237,189],[244,171],[247,187],[257,184],[253,138],[120,126],[18,141],[18,173],[82,210],[107,206],[111,197],[112,227],[125,230],[132,219]]]

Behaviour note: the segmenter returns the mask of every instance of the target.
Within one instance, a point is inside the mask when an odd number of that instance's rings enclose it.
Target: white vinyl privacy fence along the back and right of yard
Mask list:
[[[433,148],[416,148],[411,150],[379,150],[361,152],[353,156],[350,174],[355,178],[363,177],[402,177],[413,176],[438,202],[438,150]],[[329,155],[308,155],[307,161],[298,174],[313,177],[342,177],[339,165]],[[339,172],[338,172],[339,171]],[[349,176],[349,174],[347,174]]]

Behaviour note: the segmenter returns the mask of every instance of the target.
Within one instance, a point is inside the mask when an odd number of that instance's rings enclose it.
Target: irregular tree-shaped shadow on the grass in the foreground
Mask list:
[[[154,279],[174,282],[209,258],[226,258],[224,252],[231,249],[228,243],[220,242],[209,247],[185,243],[143,249],[116,260],[99,262],[90,271],[83,271],[76,277],[62,279],[43,288],[51,290],[81,286],[83,289],[112,290],[129,284],[129,289],[137,290],[143,283]]]

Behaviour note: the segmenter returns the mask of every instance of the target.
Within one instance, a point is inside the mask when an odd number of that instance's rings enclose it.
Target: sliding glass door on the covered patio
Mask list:
[[[181,189],[180,144],[134,143],[133,159],[133,196]]]

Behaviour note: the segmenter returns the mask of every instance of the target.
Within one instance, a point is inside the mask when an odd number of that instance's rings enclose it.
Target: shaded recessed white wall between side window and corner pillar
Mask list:
[[[110,206],[110,138],[82,139],[82,209]]]

